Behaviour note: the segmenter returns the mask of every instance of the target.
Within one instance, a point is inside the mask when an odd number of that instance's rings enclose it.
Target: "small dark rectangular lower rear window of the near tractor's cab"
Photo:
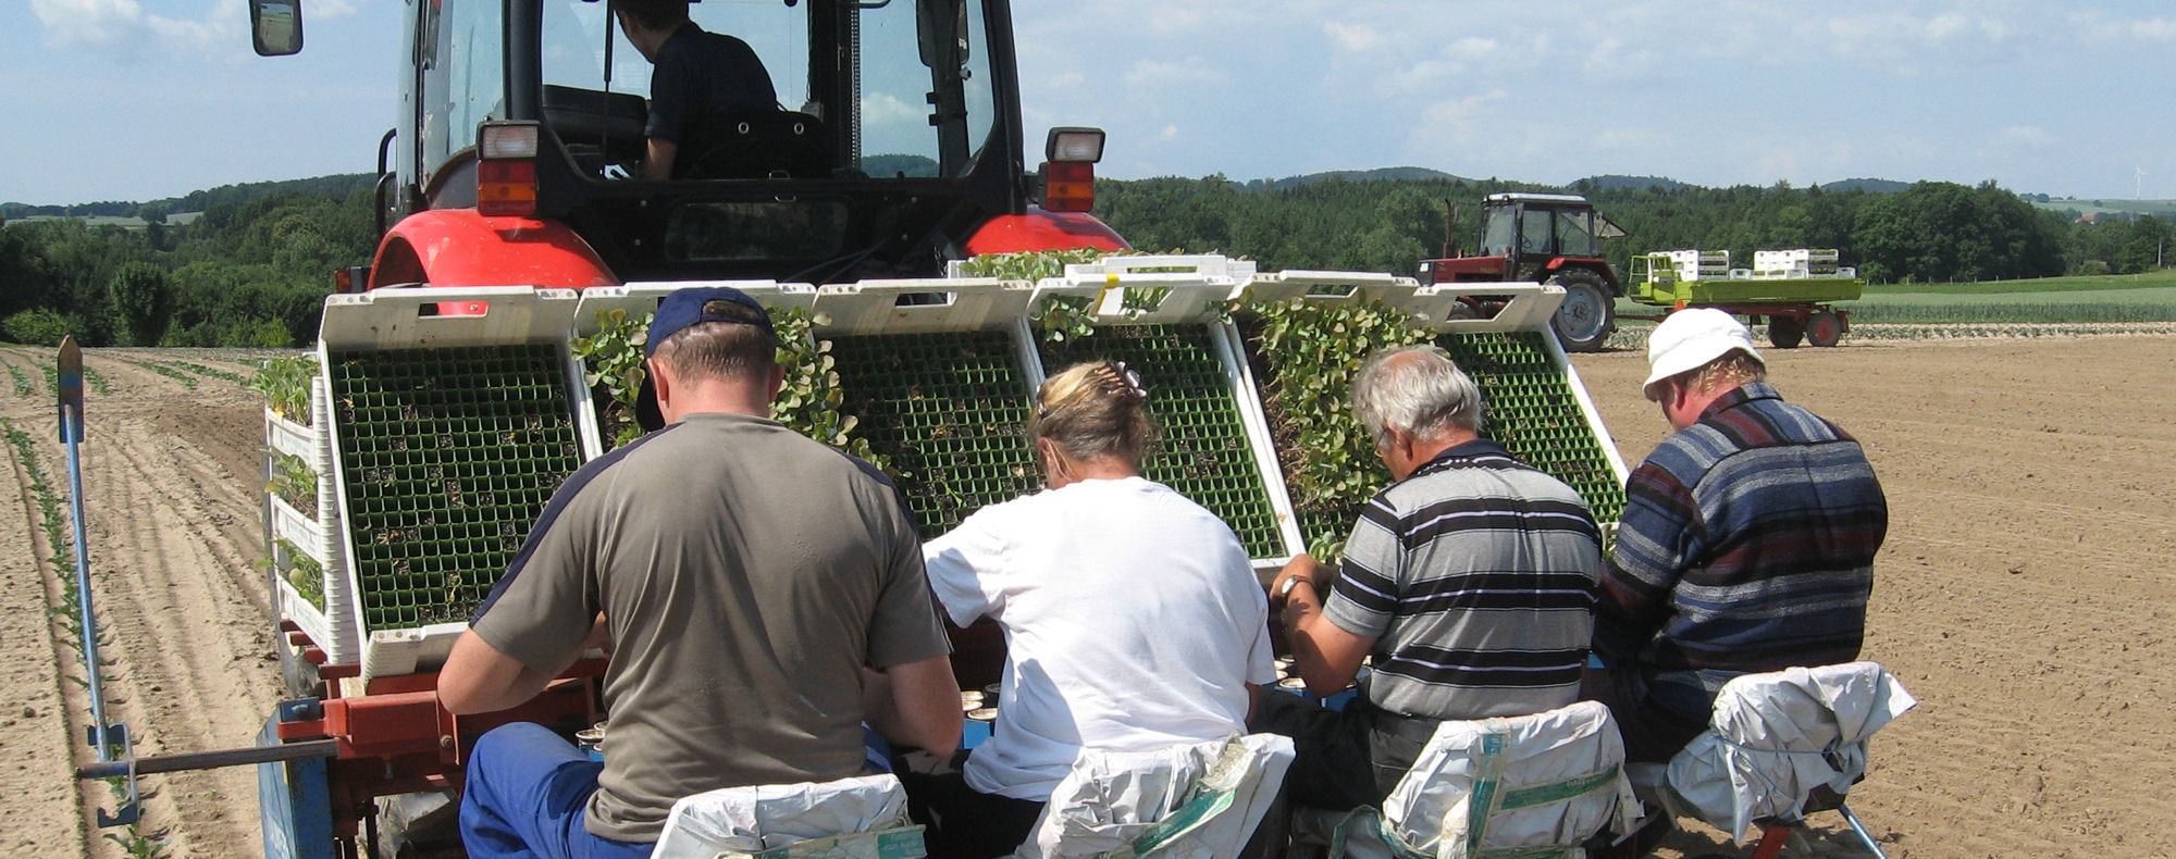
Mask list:
[[[846,239],[838,202],[690,202],[666,217],[666,259],[829,259]]]

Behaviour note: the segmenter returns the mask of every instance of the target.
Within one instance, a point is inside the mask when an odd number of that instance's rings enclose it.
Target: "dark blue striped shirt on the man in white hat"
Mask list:
[[[1741,385],[1625,481],[1595,650],[1682,685],[1680,715],[1706,724],[1734,674],[1858,659],[1887,533],[1858,441]]]

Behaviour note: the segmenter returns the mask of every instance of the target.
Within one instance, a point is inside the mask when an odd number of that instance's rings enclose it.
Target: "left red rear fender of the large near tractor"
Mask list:
[[[566,224],[485,217],[474,209],[418,211],[379,241],[370,289],[431,287],[614,287],[605,267]]]

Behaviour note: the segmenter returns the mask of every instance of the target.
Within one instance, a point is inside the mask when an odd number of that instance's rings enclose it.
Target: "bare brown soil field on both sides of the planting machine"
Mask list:
[[[1891,502],[1867,659],[1919,707],[1874,744],[1852,807],[1891,857],[2102,857],[2176,848],[2176,344],[2167,335],[1845,341],[1771,350],[1793,402],[1867,444]],[[0,428],[65,498],[50,350],[0,348]],[[89,557],[109,633],[111,718],[139,752],[248,746],[279,700],[259,526],[261,404],[215,350],[91,350]],[[1578,357],[1617,446],[1665,435],[1636,350]],[[185,383],[183,378],[194,378]],[[15,383],[22,378],[22,383]],[[11,385],[13,383],[13,385]],[[24,391],[28,387],[28,391]],[[0,855],[124,855],[48,607],[33,470],[0,474]],[[4,485],[4,481],[0,481]],[[63,513],[65,515],[65,513]],[[255,770],[148,776],[144,833],[176,857],[257,855]],[[1860,855],[1823,816],[1810,855]],[[1715,833],[1665,855],[1734,852]],[[1808,855],[1808,852],[1795,852]]]

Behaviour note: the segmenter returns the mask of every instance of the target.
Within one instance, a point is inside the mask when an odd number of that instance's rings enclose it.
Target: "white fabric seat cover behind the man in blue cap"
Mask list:
[[[805,846],[794,850],[794,846]],[[766,855],[912,859],[925,855],[923,829],[907,818],[907,789],[894,774],[799,785],[722,787],[672,802],[655,859]]]

